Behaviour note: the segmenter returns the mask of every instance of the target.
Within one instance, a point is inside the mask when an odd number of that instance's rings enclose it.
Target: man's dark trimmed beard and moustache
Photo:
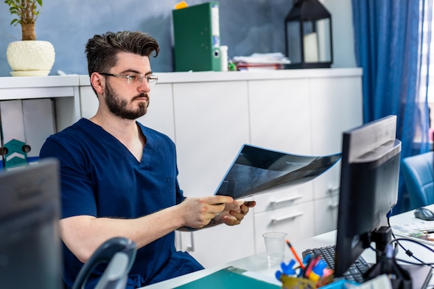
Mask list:
[[[140,116],[144,116],[148,110],[149,96],[142,92],[141,94],[134,96],[132,100],[136,98],[146,97],[148,103],[139,103],[139,107],[136,110],[128,109],[128,101],[121,99],[119,94],[116,94],[114,89],[110,86],[109,82],[106,82],[105,86],[105,104],[112,114],[119,116],[122,119],[139,119]],[[131,100],[131,101],[132,101]]]

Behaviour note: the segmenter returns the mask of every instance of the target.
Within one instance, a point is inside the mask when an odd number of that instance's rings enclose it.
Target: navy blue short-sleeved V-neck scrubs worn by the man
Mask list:
[[[138,218],[182,202],[175,144],[166,135],[137,125],[146,137],[140,162],[120,141],[87,119],[46,139],[40,157],[60,160],[62,218]],[[176,252],[174,240],[171,232],[137,250],[128,288],[203,269],[186,252]],[[65,245],[63,254],[64,281],[71,288],[83,263]],[[95,272],[91,283],[98,276]]]

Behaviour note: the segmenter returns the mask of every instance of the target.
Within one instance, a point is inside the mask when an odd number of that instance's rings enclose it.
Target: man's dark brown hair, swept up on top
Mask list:
[[[94,35],[87,41],[86,58],[89,76],[94,72],[106,72],[116,65],[119,52],[129,52],[141,56],[150,56],[155,51],[157,57],[159,45],[154,37],[143,32],[119,31]]]

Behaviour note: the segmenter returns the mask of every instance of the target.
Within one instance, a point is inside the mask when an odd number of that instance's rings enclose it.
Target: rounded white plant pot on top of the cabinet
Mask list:
[[[54,46],[48,41],[10,42],[6,50],[12,76],[48,76],[54,64]]]

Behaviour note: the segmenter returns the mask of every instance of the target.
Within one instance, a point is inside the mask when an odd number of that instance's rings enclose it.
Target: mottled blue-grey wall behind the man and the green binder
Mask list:
[[[85,43],[107,31],[141,30],[153,35],[161,51],[151,60],[153,71],[173,71],[171,11],[180,0],[44,0],[36,21],[36,37],[55,48],[58,70],[87,74]],[[190,6],[203,0],[186,0]],[[282,52],[284,17],[293,0],[220,0],[220,42],[229,46],[229,57],[254,52]],[[0,3],[0,76],[10,76],[6,49],[21,40],[21,26],[10,26],[13,17]]]

